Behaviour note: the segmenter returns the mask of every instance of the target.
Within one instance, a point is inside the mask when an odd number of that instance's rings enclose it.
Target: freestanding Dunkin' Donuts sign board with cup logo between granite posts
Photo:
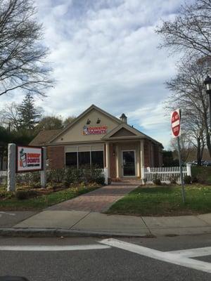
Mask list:
[[[17,146],[16,171],[41,171],[42,170],[42,148],[33,146]]]

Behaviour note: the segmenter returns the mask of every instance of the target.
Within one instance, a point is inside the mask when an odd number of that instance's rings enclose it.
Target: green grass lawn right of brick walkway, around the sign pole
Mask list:
[[[186,185],[186,204],[181,187],[139,187],[117,201],[106,214],[134,216],[183,216],[211,212],[211,186]]]

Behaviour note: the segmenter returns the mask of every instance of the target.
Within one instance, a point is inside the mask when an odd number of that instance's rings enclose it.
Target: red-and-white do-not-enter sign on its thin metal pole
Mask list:
[[[179,136],[181,136],[181,110],[174,110],[171,114],[171,122],[172,122],[172,135],[174,138],[177,138],[178,145],[178,155],[179,155],[179,171],[180,171],[180,181],[181,181],[181,195],[182,201],[185,203],[185,190],[184,190],[184,179],[182,174],[182,166],[181,166],[181,148],[179,143]]]

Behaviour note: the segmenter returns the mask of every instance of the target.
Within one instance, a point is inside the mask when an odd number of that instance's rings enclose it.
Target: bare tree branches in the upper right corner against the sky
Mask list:
[[[173,21],[162,22],[156,32],[163,39],[162,46],[189,55],[211,55],[211,0],[196,0],[181,6]]]

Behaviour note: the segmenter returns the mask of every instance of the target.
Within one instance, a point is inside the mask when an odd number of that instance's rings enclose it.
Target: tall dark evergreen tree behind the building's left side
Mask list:
[[[20,129],[33,130],[41,118],[41,110],[34,106],[34,98],[27,93],[19,107]]]

